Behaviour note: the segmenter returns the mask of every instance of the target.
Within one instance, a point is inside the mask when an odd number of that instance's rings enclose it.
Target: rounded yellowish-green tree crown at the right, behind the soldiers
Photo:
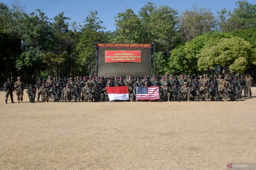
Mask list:
[[[221,66],[225,73],[246,71],[248,62],[252,61],[253,52],[249,42],[239,37],[222,38],[208,41],[202,51],[197,55],[198,69],[207,71]]]

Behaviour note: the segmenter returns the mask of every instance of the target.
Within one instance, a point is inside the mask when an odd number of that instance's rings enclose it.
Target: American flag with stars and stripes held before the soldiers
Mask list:
[[[137,100],[159,100],[159,87],[137,87]]]

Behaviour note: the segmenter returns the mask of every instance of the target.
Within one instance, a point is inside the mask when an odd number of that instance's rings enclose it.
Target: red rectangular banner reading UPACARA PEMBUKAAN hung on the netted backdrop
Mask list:
[[[141,51],[105,51],[105,62],[141,62]]]

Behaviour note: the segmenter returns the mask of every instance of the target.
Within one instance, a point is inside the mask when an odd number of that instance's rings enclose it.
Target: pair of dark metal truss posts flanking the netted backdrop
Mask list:
[[[155,44],[151,43],[150,44],[150,78],[152,78],[152,59],[153,59],[153,74],[155,75]],[[93,64],[93,59],[95,58],[95,65]],[[93,42],[92,43],[92,76],[98,76],[98,68],[99,68],[99,51],[97,47],[97,43]]]

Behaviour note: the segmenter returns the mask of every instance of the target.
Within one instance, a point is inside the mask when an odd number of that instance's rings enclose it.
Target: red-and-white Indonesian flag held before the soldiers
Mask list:
[[[106,87],[109,101],[112,100],[129,100],[128,87]]]

